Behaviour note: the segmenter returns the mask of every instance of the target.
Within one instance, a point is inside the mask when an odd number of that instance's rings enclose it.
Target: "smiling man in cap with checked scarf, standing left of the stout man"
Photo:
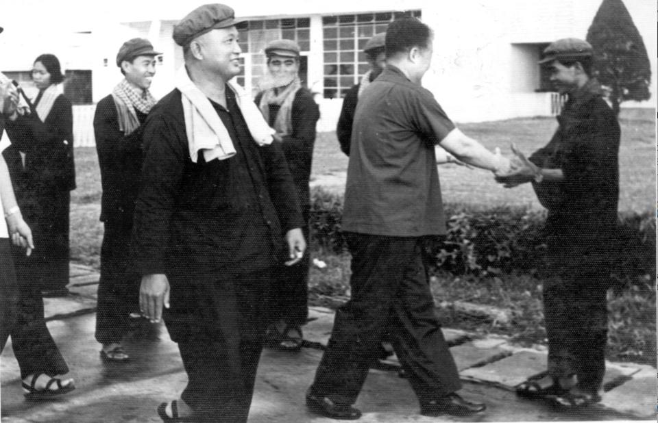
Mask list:
[[[149,92],[156,55],[149,40],[133,38],[117,53],[123,79],[99,101],[94,115],[101,168],[101,279],[98,286],[96,340],[106,361],[129,359],[121,340],[129,315],[139,310],[139,275],[128,266],[132,213],[142,167],[142,125],[156,104]]]

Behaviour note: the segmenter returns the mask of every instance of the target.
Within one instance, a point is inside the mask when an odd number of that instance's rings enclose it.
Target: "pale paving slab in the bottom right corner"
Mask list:
[[[636,377],[637,375],[638,373],[634,374],[630,381],[603,394],[600,404],[620,413],[655,421],[656,398],[658,398],[656,370],[642,372],[640,377]]]

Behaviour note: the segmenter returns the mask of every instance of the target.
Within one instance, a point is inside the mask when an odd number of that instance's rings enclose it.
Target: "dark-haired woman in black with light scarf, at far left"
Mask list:
[[[8,130],[16,126],[18,133],[5,157],[23,215],[40,245],[24,267],[29,268],[31,283],[39,285],[45,295],[62,296],[69,293],[69,203],[75,188],[73,111],[71,101],[60,94],[58,85],[64,75],[55,55],[36,58],[32,80],[38,88],[31,101],[32,112],[21,116],[16,125],[8,125]]]

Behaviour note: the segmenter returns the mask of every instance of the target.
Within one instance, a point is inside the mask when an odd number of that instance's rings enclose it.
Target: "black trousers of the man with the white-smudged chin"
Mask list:
[[[306,245],[309,240],[309,207],[302,210],[306,226],[302,228]],[[273,268],[273,284],[270,291],[269,303],[273,321],[283,320],[287,324],[302,325],[308,318],[308,266],[310,256],[308,251],[293,266],[280,264]]]

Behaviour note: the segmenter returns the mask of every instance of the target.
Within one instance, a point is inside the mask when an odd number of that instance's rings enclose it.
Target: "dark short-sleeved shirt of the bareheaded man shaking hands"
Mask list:
[[[445,233],[434,149],[452,129],[432,93],[388,65],[356,105],[343,230]]]

